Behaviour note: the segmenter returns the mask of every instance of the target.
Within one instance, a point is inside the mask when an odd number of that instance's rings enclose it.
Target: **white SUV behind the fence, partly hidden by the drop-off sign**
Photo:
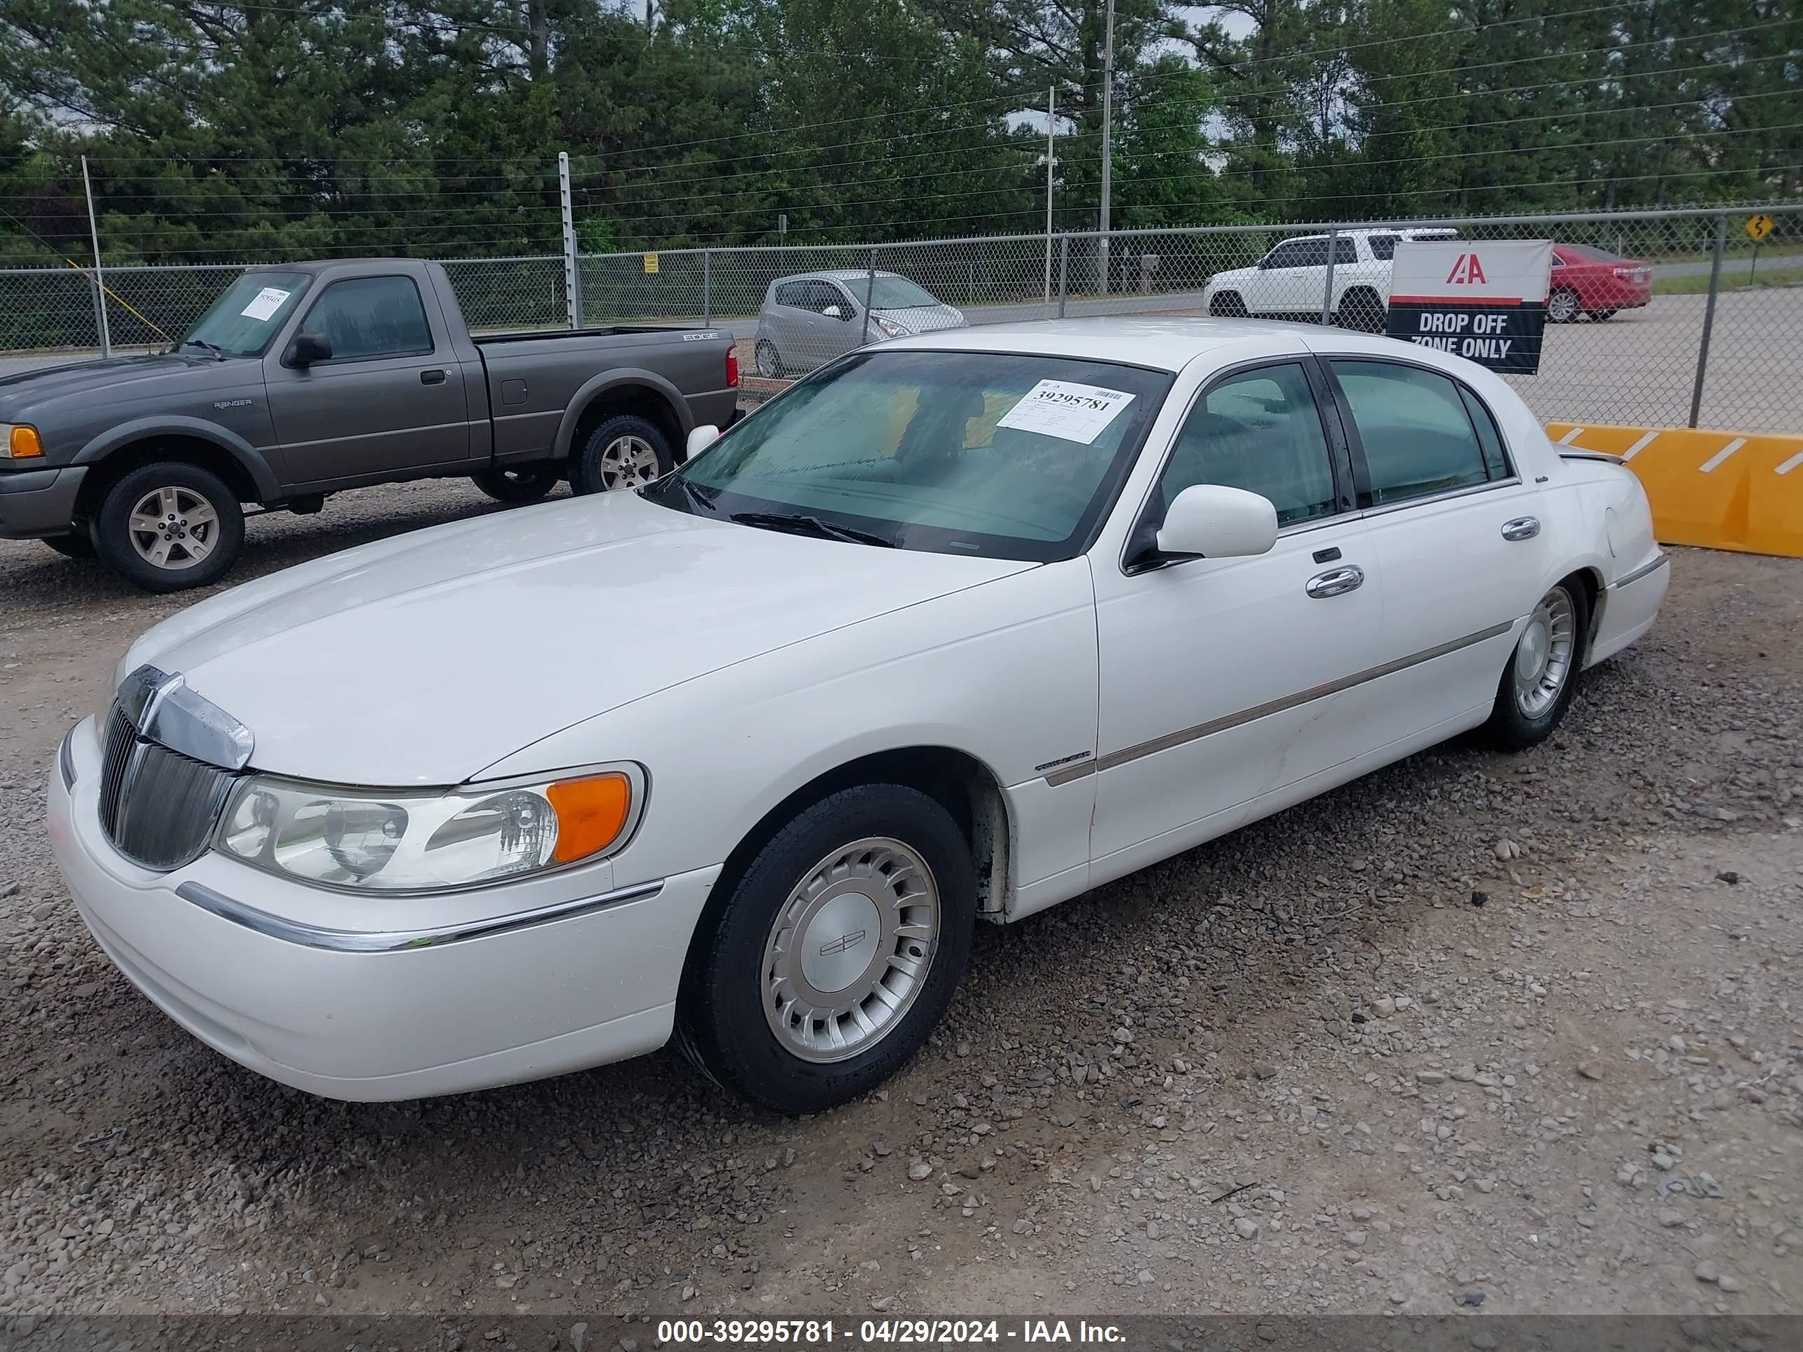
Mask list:
[[[1253,267],[1217,272],[1203,288],[1208,314],[1221,317],[1320,321],[1327,299],[1327,249],[1332,240],[1332,319],[1341,328],[1383,332],[1390,296],[1390,260],[1397,240],[1455,240],[1453,229],[1367,229],[1284,240]]]

